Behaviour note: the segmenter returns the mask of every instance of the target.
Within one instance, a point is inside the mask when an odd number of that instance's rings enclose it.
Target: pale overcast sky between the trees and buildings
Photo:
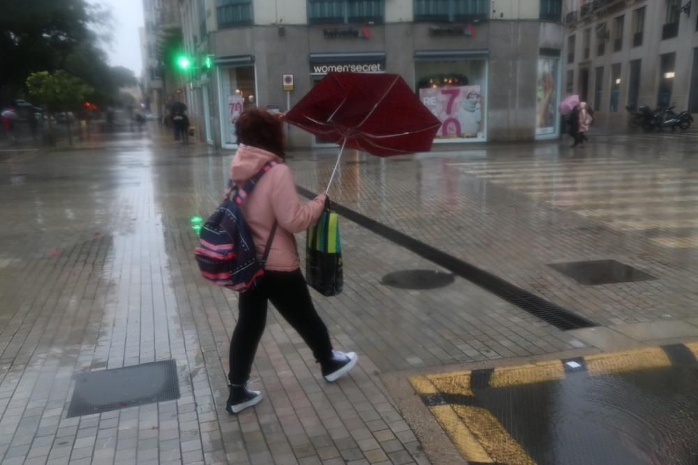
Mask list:
[[[143,26],[142,0],[91,0],[105,3],[114,15],[114,40],[109,53],[111,66],[124,66],[140,77],[140,37],[138,28]]]

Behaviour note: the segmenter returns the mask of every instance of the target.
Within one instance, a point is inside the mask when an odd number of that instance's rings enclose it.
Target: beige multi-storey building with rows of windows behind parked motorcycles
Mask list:
[[[564,93],[622,128],[625,108],[698,112],[698,5],[690,0],[567,0]]]

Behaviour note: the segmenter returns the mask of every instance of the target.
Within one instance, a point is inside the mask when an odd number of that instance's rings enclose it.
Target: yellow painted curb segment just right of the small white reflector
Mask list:
[[[584,362],[586,362],[586,372],[591,376],[669,367],[671,365],[671,360],[659,347],[587,355],[584,357]]]

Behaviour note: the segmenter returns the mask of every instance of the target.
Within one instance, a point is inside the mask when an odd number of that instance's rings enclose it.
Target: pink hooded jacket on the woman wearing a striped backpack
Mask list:
[[[242,214],[255,242],[258,258],[262,258],[274,219],[279,222],[266,270],[291,272],[300,267],[294,232],[308,229],[318,221],[325,205],[325,194],[303,205],[298,200],[293,176],[288,165],[278,156],[241,144],[230,163],[230,179],[242,185],[269,161],[279,165],[269,170],[242,204]]]

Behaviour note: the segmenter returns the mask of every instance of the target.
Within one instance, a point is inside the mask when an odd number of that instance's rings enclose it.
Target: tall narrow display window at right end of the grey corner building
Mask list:
[[[560,51],[541,50],[535,87],[535,138],[554,139],[560,135]]]

